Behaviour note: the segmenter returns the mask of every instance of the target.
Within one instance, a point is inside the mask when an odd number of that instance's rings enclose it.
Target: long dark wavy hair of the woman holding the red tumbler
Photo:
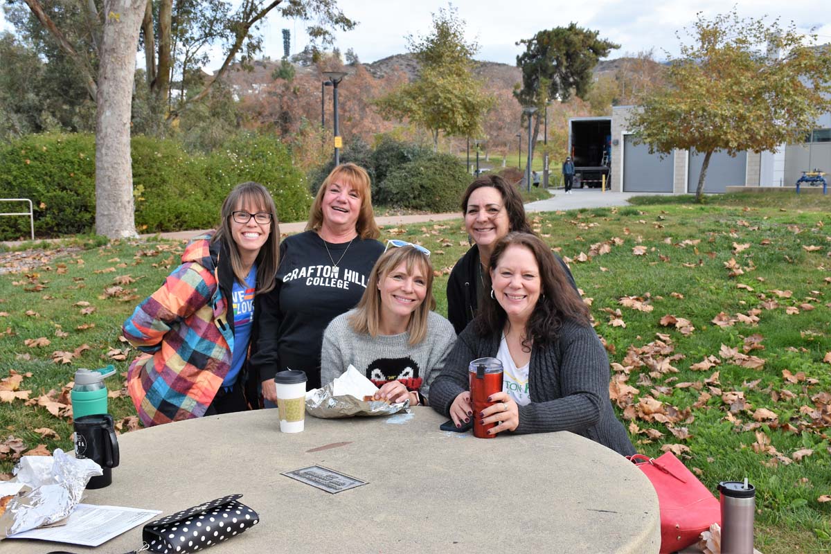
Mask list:
[[[568,281],[563,266],[554,259],[551,248],[541,238],[531,233],[508,233],[496,243],[494,253],[490,256],[489,267],[495,271],[499,258],[511,246],[528,248],[537,261],[540,278],[540,294],[534,311],[531,312],[525,326],[523,348],[530,350],[531,342],[540,346],[557,340],[563,321],[576,321],[583,326],[589,323],[588,306],[579,297],[577,291]],[[490,274],[485,282],[485,290],[491,287]],[[483,295],[484,296],[484,295]],[[485,297],[479,306],[479,315],[475,319],[475,329],[480,336],[493,335],[505,326],[507,315],[499,302]]]

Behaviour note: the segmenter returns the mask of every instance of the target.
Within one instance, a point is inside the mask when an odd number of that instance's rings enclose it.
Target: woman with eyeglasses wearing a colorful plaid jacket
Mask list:
[[[144,352],[127,390],[145,426],[259,407],[248,364],[260,300],[274,287],[280,230],[271,194],[239,184],[219,228],[194,238],[182,264],[135,308],[122,332]]]

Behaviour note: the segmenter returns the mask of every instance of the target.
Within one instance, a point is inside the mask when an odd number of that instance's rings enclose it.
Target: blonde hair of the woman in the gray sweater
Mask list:
[[[433,297],[433,264],[430,263],[430,257],[411,246],[389,248],[381,254],[369,274],[369,282],[366,283],[366,291],[361,297],[361,302],[358,302],[355,312],[349,316],[349,325],[356,333],[378,336],[378,328],[381,326],[381,291],[378,290],[378,283],[386,279],[389,272],[402,262],[406,264],[407,273],[410,274],[416,266],[420,266],[427,284],[424,302],[421,302],[416,311],[413,311],[410,322],[407,324],[410,345],[414,346],[424,341],[427,336],[427,319],[430,316],[430,310],[435,309],[435,298]]]

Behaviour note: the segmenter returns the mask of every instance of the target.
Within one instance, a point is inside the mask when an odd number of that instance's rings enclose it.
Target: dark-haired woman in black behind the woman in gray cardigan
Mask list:
[[[447,281],[447,318],[457,334],[476,316],[490,254],[499,239],[512,231],[534,233],[525,219],[519,192],[499,175],[484,175],[468,186],[462,197],[462,213],[474,245],[456,262]],[[576,290],[568,267],[559,257],[556,259]]]

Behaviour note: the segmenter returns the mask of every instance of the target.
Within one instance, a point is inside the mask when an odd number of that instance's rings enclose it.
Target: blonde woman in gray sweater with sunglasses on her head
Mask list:
[[[428,404],[430,384],[456,338],[450,321],[434,308],[430,251],[387,241],[361,302],[323,334],[322,385],[354,365],[380,387],[376,400]]]

